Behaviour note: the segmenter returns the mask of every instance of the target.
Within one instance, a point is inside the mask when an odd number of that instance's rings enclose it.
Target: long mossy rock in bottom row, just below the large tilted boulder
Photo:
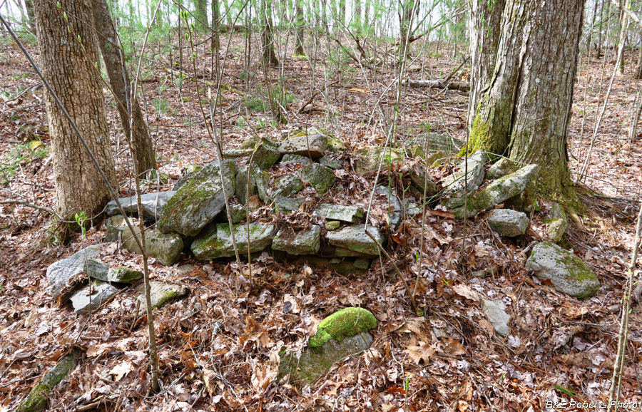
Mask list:
[[[234,225],[234,240],[240,254],[248,253],[248,225]],[[250,252],[260,252],[270,247],[275,234],[274,225],[250,223]],[[201,235],[192,242],[192,252],[202,260],[234,256],[232,233],[228,223],[219,223],[212,232]]]

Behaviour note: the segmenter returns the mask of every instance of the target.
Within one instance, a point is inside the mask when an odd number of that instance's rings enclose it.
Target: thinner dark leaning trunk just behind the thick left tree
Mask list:
[[[116,99],[118,114],[121,115],[121,123],[126,138],[130,137],[130,117],[128,114],[128,98],[130,98],[129,73],[121,58],[121,48],[118,46],[118,34],[113,26],[106,0],[93,0],[93,16],[98,31],[98,43],[101,46],[101,53],[107,68],[107,76],[111,89]],[[123,56],[124,57],[124,56]],[[148,170],[156,170],[156,157],[154,154],[153,142],[149,136],[145,118],[141,111],[138,99],[131,102],[133,113],[133,133],[131,133],[131,144],[135,146],[135,153],[138,161],[138,171],[141,176],[147,175]]]

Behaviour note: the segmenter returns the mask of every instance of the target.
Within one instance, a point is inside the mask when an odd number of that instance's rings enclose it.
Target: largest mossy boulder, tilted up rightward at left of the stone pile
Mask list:
[[[223,160],[220,165],[225,190],[220,181],[218,161],[208,163],[163,207],[158,230],[184,237],[195,236],[223,210],[225,197],[229,199],[234,194],[236,166],[233,160]]]

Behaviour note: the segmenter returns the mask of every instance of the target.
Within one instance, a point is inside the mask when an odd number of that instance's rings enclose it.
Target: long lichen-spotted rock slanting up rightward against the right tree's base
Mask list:
[[[463,219],[477,215],[481,210],[491,209],[526,189],[538,173],[539,165],[528,165],[510,175],[500,177],[470,197],[465,208],[457,207],[452,212],[457,219]]]

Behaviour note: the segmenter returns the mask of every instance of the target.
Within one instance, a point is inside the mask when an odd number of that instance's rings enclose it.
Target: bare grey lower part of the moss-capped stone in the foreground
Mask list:
[[[330,339],[323,346],[304,349],[300,357],[286,352],[281,356],[277,378],[281,379],[290,374],[290,383],[314,385],[321,376],[330,371],[332,364],[367,350],[372,340],[370,333],[363,332],[342,341]]]

